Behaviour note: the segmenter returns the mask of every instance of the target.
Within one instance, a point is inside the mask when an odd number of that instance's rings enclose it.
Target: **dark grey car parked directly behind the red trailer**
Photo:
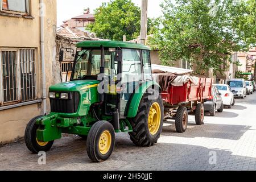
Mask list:
[[[210,112],[210,116],[214,116],[216,110],[219,113],[222,113],[224,109],[224,104],[222,102],[221,93],[218,92],[218,89],[215,85],[212,86],[212,98],[207,102],[204,102],[204,110]]]

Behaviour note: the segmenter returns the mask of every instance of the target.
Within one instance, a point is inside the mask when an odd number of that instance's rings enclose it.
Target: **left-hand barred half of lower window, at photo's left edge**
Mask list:
[[[3,103],[18,101],[17,51],[1,51]]]

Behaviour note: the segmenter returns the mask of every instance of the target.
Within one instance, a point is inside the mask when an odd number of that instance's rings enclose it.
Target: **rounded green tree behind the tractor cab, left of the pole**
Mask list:
[[[95,23],[89,24],[91,31],[99,38],[122,40],[136,39],[141,27],[141,9],[131,0],[114,0],[95,11]]]

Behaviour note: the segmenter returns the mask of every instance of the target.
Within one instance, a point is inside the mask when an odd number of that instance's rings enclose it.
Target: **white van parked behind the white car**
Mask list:
[[[246,85],[244,79],[231,79],[228,81],[228,85],[236,98],[245,98],[246,97]]]

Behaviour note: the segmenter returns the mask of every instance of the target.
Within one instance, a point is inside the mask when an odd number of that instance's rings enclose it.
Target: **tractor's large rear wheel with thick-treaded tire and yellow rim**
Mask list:
[[[155,90],[153,92],[156,92]],[[130,119],[133,132],[130,132],[131,141],[137,146],[150,147],[158,142],[163,129],[164,108],[159,93],[158,98],[150,100],[152,94],[146,93],[139,104],[138,114]]]

